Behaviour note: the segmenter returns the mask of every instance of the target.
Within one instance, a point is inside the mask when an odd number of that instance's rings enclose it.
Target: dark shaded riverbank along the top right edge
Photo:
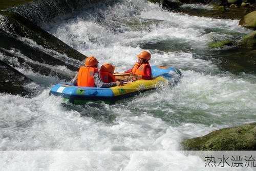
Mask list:
[[[246,14],[256,10],[256,4],[244,3],[232,6],[223,1],[165,1],[150,0],[152,3],[159,3],[163,8],[182,12],[192,16],[242,19]],[[236,1],[234,1],[236,2]],[[233,4],[234,5],[234,4]],[[231,8],[229,7],[231,6]]]

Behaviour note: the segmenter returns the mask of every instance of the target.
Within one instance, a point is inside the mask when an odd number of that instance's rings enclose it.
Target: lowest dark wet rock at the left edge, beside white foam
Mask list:
[[[22,73],[0,60],[0,92],[32,96],[34,92],[25,86],[32,82]]]

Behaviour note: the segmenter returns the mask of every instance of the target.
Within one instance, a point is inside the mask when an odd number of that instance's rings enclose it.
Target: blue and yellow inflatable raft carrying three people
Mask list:
[[[182,77],[180,70],[166,66],[152,66],[152,75],[152,80],[137,80],[110,88],[78,87],[70,83],[59,83],[51,88],[50,94],[61,96],[73,104],[84,104],[88,101],[115,102],[160,85],[174,85]],[[124,76],[119,74],[115,77],[120,79]]]

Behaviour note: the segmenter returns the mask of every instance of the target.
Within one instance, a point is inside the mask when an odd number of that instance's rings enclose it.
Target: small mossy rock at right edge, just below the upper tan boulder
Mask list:
[[[244,36],[242,40],[238,42],[238,46],[242,48],[256,49],[256,31]]]

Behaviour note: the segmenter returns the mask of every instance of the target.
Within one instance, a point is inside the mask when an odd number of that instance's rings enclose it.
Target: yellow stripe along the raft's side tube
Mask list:
[[[156,88],[160,83],[167,83],[167,80],[163,77],[157,77],[153,80],[137,80],[132,83],[127,83],[123,86],[111,87],[111,89],[114,93],[114,96],[118,96],[121,94],[136,92],[139,90]]]

